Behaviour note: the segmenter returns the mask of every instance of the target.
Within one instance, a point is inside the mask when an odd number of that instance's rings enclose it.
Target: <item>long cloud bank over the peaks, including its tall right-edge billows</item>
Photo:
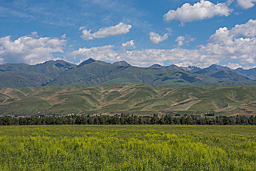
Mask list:
[[[125,60],[136,66],[150,66],[170,61],[170,64],[179,66],[207,67],[221,63],[231,68],[241,66],[250,68],[256,66],[256,37],[254,28],[252,28],[254,23],[255,20],[249,20],[231,29],[221,27],[209,38],[208,43],[198,46],[197,49],[126,50],[121,46],[115,50],[114,45],[107,45],[80,48],[72,52],[71,56],[77,56],[83,60],[93,57],[109,62]],[[182,38],[181,41],[186,41],[186,38]]]

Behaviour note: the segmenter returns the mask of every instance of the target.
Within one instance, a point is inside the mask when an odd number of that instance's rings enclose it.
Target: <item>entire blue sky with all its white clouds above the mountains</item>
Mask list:
[[[0,64],[256,67],[256,0],[0,0]]]

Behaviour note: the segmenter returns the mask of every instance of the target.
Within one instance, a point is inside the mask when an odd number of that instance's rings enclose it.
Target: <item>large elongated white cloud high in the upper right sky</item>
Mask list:
[[[208,0],[200,0],[193,5],[183,4],[177,10],[169,10],[163,17],[164,21],[170,22],[178,20],[181,23],[191,22],[203,19],[209,19],[214,16],[229,16],[232,9],[229,9],[225,3],[214,4]]]

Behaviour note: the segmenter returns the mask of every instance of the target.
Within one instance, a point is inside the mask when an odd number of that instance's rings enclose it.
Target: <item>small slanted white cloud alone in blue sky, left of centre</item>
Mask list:
[[[102,27],[95,33],[91,33],[92,30],[84,29],[84,27],[80,27],[79,30],[82,30],[81,38],[83,38],[84,40],[93,40],[98,38],[106,38],[109,36],[119,36],[122,34],[126,34],[130,31],[130,28],[132,28],[132,25],[120,22],[114,26]]]

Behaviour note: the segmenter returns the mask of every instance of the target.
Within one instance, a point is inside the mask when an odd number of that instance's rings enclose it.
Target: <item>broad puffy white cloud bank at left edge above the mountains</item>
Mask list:
[[[0,38],[1,63],[38,64],[54,59],[52,53],[63,53],[66,41],[58,38],[38,37],[37,32],[12,41],[11,36]]]

